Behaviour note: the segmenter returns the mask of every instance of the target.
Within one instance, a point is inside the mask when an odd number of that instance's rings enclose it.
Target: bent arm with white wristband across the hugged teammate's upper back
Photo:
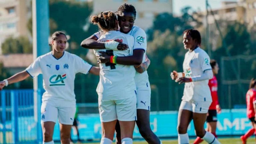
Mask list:
[[[97,41],[98,37],[95,35],[89,36],[81,42],[81,46],[88,49],[112,49],[112,50],[126,50],[128,48],[127,44],[118,42],[116,40],[112,41]]]

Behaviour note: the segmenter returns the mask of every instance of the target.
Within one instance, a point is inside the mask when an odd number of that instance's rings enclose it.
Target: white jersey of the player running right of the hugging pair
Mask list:
[[[200,76],[204,71],[211,69],[210,58],[200,47],[185,54],[183,71],[186,78]],[[212,97],[208,82],[209,80],[202,80],[185,83],[182,100],[188,102],[211,102]]]

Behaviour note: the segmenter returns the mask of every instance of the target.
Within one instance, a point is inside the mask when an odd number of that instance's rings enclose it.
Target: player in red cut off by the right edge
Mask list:
[[[247,138],[255,133],[256,129],[256,121],[255,121],[255,113],[256,113],[256,80],[254,78],[251,79],[249,90],[246,93],[246,105],[247,105],[247,117],[252,122],[252,127],[247,131],[245,135],[241,136],[241,140],[243,144],[246,144]],[[255,134],[256,135],[256,134]]]

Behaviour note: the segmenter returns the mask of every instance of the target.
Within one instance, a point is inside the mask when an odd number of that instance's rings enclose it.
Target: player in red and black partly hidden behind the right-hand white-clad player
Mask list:
[[[212,67],[212,72],[213,72],[213,78],[209,80],[209,87],[211,90],[211,96],[212,96],[212,104],[209,107],[206,122],[207,122],[207,127],[206,131],[209,131],[212,133],[216,138],[216,126],[217,126],[217,113],[221,112],[221,108],[219,105],[219,99],[218,99],[218,82],[216,79],[216,74],[219,72],[219,65],[218,63],[212,59],[210,61],[210,65]],[[199,144],[203,141],[200,137],[197,137],[196,140],[194,141],[194,144]]]

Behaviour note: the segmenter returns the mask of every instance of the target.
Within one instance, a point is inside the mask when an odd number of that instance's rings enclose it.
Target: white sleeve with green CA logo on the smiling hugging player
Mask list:
[[[147,50],[147,36],[144,30],[138,29],[134,34],[134,46],[133,50],[135,49],[143,49],[145,52]]]

